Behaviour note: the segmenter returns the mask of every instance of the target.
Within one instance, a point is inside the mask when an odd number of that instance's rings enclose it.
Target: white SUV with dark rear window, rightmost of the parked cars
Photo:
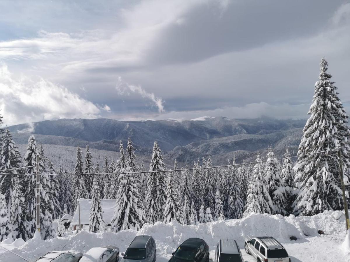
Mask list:
[[[272,236],[246,239],[244,249],[258,262],[290,262],[287,250]]]

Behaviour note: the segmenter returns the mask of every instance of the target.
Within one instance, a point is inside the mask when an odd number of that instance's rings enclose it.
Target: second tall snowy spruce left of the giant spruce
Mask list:
[[[285,214],[283,209],[285,199],[280,190],[283,182],[280,175],[280,169],[278,168],[278,161],[276,160],[275,153],[272,151],[272,146],[269,147],[269,152],[266,155],[267,162],[265,165],[267,191],[271,197],[273,203],[274,214]]]

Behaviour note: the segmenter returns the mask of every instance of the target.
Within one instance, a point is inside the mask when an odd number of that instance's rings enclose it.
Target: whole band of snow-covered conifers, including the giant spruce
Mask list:
[[[348,172],[350,130],[327,65],[322,59],[297,158],[292,158],[288,147],[276,157],[270,146],[267,155],[257,152],[253,163],[237,164],[232,156],[225,167],[213,167],[210,158],[198,158],[188,163],[190,167],[180,168],[175,160],[174,168],[167,171],[156,141],[146,168],[144,162],[138,163],[129,138],[125,149],[120,141],[119,159],[105,157],[103,166],[94,162],[88,145],[85,152],[78,146],[71,169],[45,157],[44,147],[33,135],[21,157],[9,130],[1,129],[0,241],[28,240],[34,235],[37,154],[43,239],[64,234],[62,225],[55,232],[52,221],[73,214],[80,198],[92,199],[91,232],[107,229],[100,199],[116,199],[112,232],[139,230],[156,221],[198,224],[239,219],[251,212],[310,216],[343,209],[336,150],[341,151]],[[21,167],[25,168],[16,169]]]

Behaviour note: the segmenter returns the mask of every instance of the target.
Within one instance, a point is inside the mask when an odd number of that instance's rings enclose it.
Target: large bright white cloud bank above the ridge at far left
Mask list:
[[[92,102],[43,78],[14,79],[6,64],[0,65],[0,92],[1,114],[7,125],[58,118],[96,118],[100,113]]]

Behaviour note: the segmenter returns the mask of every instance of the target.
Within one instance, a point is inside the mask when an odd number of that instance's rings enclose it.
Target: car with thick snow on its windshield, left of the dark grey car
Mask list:
[[[115,246],[93,247],[79,262],[118,262],[119,248]]]

